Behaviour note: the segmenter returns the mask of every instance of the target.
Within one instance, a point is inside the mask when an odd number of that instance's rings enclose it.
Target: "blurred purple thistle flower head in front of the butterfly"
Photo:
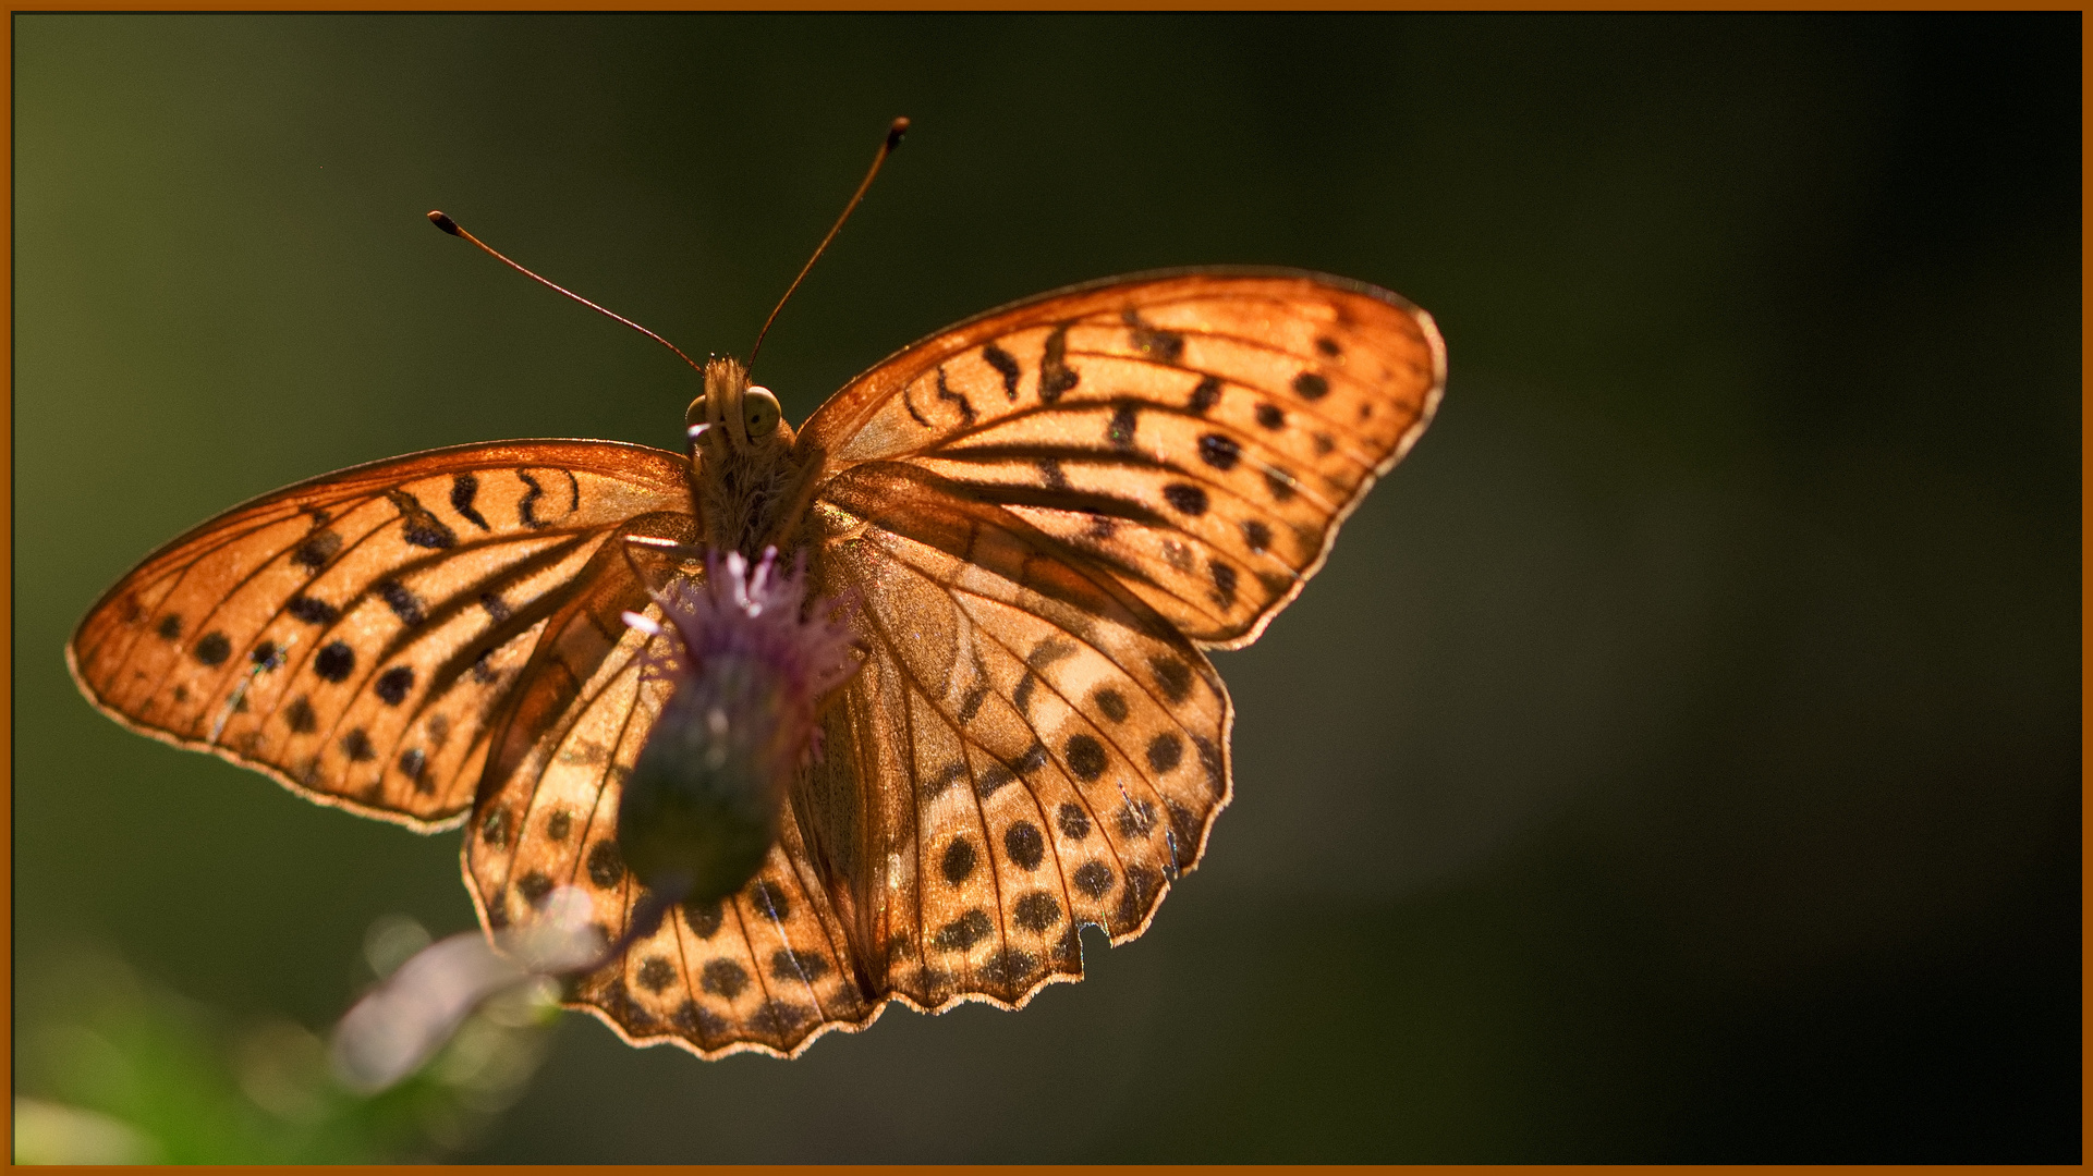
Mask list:
[[[858,670],[835,601],[808,605],[806,559],[751,567],[707,552],[703,582],[653,592],[668,624],[626,613],[663,638],[647,674],[674,682],[632,764],[617,847],[659,891],[724,898],[762,866],[793,774],[820,753],[820,705]]]

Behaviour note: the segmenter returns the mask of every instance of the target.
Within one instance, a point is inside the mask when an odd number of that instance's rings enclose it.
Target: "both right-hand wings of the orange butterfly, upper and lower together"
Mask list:
[[[1444,387],[1430,316],[1300,272],[990,312],[808,421],[827,592],[871,657],[795,795],[869,990],[1019,1004],[1124,942],[1229,799],[1239,647]]]

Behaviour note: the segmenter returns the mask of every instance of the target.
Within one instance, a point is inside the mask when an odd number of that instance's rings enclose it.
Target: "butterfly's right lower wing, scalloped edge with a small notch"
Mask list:
[[[1136,935],[1226,799],[1206,657],[1049,534],[900,465],[829,485],[829,590],[871,655],[839,783],[808,812],[858,950],[921,1009],[1082,975],[1078,925]],[[965,550],[961,559],[952,555]],[[831,726],[837,732],[837,726]],[[841,741],[831,737],[831,747]]]

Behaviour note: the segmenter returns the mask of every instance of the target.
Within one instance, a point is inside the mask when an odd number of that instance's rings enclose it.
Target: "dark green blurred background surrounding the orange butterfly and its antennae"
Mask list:
[[[2078,1159],[2076,13],[13,29],[17,977],[324,1030],[373,919],[469,927],[454,833],[119,730],[65,636],[287,481],[676,444],[672,356],[423,211],[745,352],[904,113],[791,419],[1183,264],[1413,297],[1444,410],[1216,657],[1237,801],[1084,983],[791,1063],[567,1017],[458,1157]]]

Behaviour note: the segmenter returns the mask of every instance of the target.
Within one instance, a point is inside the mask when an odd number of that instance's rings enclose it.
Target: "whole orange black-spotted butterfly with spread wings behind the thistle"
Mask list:
[[[860,188],[862,193],[862,188]],[[1432,419],[1432,318],[1296,270],[1107,278],[969,318],[802,427],[733,360],[691,452],[456,446],[264,494],[161,546],[67,665],[132,730],[419,831],[483,927],[555,887],[617,937],[613,835],[661,714],[647,550],[777,548],[848,601],[760,868],[573,979],[634,1044],[793,1057],[890,1002],[1023,1007],[1078,929],[1147,929],[1233,789],[1235,649]],[[636,555],[640,552],[640,555]]]

